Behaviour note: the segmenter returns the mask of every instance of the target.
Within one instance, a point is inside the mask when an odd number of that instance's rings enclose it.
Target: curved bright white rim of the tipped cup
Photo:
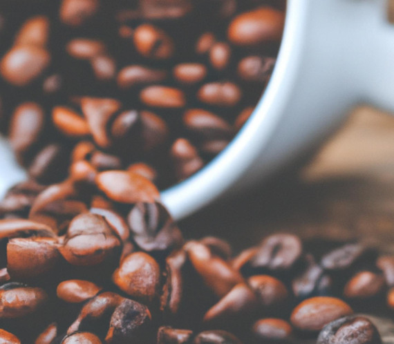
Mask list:
[[[203,169],[160,193],[162,202],[176,220],[203,208],[228,189],[236,189],[237,180],[266,149],[294,89],[307,3],[288,0],[283,37],[272,77],[241,130]]]

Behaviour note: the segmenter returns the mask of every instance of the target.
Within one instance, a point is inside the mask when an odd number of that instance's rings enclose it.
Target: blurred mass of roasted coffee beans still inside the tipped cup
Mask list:
[[[0,128],[41,184],[131,170],[188,178],[243,126],[284,0],[3,0]]]

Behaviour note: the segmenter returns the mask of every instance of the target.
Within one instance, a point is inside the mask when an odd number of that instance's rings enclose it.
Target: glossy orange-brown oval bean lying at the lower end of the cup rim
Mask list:
[[[154,202],[160,198],[155,185],[147,178],[125,171],[106,171],[95,179],[108,198],[120,203]]]

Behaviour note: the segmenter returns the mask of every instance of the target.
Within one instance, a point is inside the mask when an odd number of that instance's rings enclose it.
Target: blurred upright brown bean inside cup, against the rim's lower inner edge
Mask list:
[[[173,142],[170,156],[178,180],[188,178],[204,166],[204,162],[198,155],[196,147],[186,139],[180,138]]]

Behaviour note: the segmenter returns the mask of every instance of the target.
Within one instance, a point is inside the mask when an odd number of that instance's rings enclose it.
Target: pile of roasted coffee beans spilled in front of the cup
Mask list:
[[[379,344],[394,256],[275,233],[234,256],[185,241],[142,175],[104,171],[0,203],[1,343]]]

